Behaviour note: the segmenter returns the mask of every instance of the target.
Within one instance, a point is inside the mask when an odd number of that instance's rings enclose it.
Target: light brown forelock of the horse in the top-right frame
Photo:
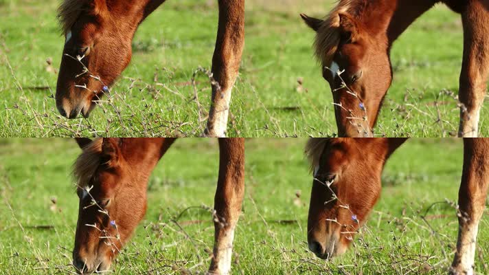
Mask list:
[[[317,30],[314,41],[315,55],[322,64],[328,66],[331,64],[340,43],[338,14],[348,12],[354,6],[354,3],[359,4],[359,1],[340,0],[337,6],[326,16],[319,30]]]

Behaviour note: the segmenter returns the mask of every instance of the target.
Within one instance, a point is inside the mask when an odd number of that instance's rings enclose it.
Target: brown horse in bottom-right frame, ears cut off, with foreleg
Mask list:
[[[308,217],[309,249],[322,259],[343,254],[380,195],[387,158],[406,139],[310,139],[314,168]],[[369,152],[369,153],[365,153]],[[479,220],[489,186],[489,139],[464,139],[459,190],[459,233],[451,274],[474,274]]]

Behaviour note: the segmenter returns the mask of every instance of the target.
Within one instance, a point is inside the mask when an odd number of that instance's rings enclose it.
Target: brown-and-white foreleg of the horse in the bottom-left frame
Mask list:
[[[234,229],[244,197],[244,139],[219,139],[219,179],[214,197],[214,254],[210,274],[229,274]]]

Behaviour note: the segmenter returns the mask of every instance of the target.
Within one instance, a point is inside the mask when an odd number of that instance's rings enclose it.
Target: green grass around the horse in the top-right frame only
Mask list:
[[[249,106],[245,109],[251,108],[244,125],[249,131],[259,129],[254,136],[334,134],[332,95],[312,56],[314,33],[298,16],[304,12],[324,17],[333,1],[251,2],[244,70],[253,72],[245,76],[254,100],[244,101]],[[459,110],[446,94],[458,91],[462,36],[459,15],[437,5],[394,43],[394,83],[380,113],[377,134],[441,137],[457,133]],[[302,78],[300,87],[298,78]],[[437,122],[435,100],[442,122]],[[483,109],[481,125],[487,118]],[[487,129],[481,127],[482,136],[488,135]]]

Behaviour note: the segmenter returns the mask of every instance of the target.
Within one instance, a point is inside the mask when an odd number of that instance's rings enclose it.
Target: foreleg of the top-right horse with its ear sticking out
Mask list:
[[[477,137],[489,65],[489,1],[468,1],[462,12],[464,61],[460,74],[459,137]]]

